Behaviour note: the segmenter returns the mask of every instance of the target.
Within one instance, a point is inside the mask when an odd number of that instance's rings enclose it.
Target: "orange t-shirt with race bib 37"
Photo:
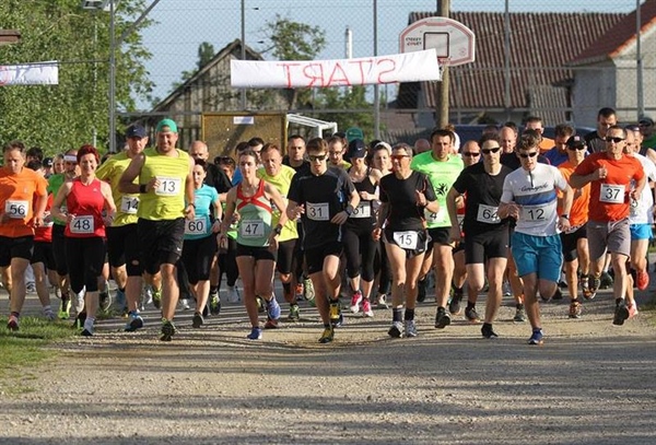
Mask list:
[[[593,153],[574,169],[577,175],[589,175],[605,167],[608,175],[590,183],[590,221],[620,221],[629,218],[631,179],[641,180],[645,173],[635,157],[622,155],[611,160],[606,152]]]

